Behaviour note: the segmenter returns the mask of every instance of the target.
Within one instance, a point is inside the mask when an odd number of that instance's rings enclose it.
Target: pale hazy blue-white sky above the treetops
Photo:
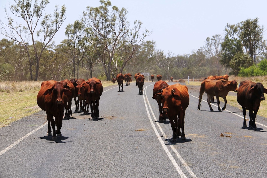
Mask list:
[[[14,4],[14,1],[0,2],[1,20],[6,16],[4,7],[9,9],[9,3]],[[259,25],[267,29],[266,0],[111,0],[111,3],[128,10],[130,24],[140,20],[143,23],[141,33],[144,29],[152,31],[145,40],[155,41],[156,49],[165,54],[168,51],[174,55],[191,54],[204,46],[207,37],[216,34],[224,37],[227,23],[237,24],[258,17]],[[99,0],[50,0],[45,11],[53,13],[55,5],[61,7],[63,4],[67,9],[67,19],[54,37],[56,44],[66,39],[66,26],[80,20],[86,6],[101,5]],[[267,39],[266,31],[264,39]]]

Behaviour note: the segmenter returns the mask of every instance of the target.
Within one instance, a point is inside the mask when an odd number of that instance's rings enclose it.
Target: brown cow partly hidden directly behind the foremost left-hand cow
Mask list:
[[[62,80],[60,81],[63,84],[63,87],[70,90],[72,93],[72,96],[68,96],[68,104],[65,107],[65,116],[64,118],[70,118],[70,116],[72,115],[72,111],[71,111],[71,102],[72,102],[72,98],[76,95],[75,93],[75,87],[72,84],[72,82],[68,79]]]

